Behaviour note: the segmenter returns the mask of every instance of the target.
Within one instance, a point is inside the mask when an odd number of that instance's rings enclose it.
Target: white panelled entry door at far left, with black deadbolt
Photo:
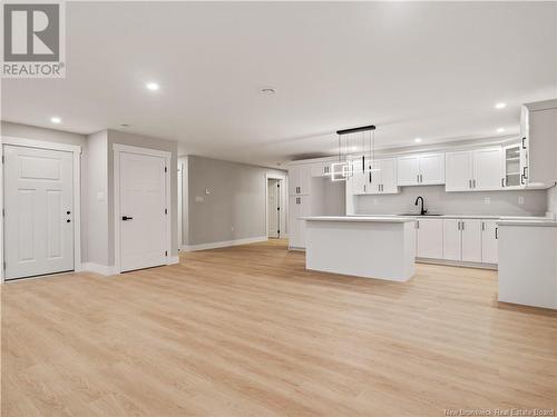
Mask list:
[[[3,151],[6,279],[74,270],[74,155]]]

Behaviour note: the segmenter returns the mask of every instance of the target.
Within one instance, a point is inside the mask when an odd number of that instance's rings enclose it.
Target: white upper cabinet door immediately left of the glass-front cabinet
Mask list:
[[[486,148],[473,151],[475,190],[498,190],[502,188],[502,148]]]

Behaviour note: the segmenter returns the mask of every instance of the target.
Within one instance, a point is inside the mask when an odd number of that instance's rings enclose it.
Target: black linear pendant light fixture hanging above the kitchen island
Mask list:
[[[362,172],[369,172],[371,177],[371,171],[377,170],[373,168],[373,159],[375,157],[375,127],[373,125],[362,126],[360,128],[336,130],[339,136],[339,161],[331,163],[331,180],[332,181],[345,181],[354,175],[354,165],[348,160],[348,153],[350,150],[349,140],[354,133],[360,133],[362,137]],[[342,150],[342,141],[345,141],[345,153]],[[365,155],[365,142],[369,145],[369,153]],[[354,163],[358,163],[354,161]]]

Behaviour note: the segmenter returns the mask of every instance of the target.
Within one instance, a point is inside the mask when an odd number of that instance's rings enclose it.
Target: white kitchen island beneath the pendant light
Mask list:
[[[414,219],[305,217],[305,267],[407,281],[414,275]]]

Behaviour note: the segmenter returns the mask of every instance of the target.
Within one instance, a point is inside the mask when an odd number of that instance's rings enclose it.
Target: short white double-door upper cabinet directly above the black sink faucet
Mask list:
[[[444,183],[444,153],[421,153],[397,158],[399,186]]]

